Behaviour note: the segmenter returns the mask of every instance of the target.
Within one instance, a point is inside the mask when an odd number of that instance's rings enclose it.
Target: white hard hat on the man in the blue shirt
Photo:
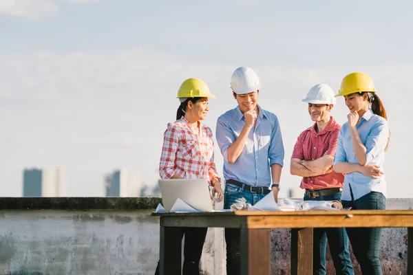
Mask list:
[[[235,94],[247,94],[261,88],[261,80],[250,67],[239,67],[231,76],[231,89]]]

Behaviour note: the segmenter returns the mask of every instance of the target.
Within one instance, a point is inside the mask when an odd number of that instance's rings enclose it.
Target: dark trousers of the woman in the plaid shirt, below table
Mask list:
[[[207,230],[208,228],[182,228],[182,236],[185,236],[182,275],[201,274],[200,259]],[[159,262],[155,275],[159,275]]]

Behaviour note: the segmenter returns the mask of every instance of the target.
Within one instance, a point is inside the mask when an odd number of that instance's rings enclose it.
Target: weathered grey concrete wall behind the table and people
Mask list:
[[[153,274],[159,219],[144,208],[153,209],[159,199],[28,199],[0,198],[0,274]],[[413,199],[388,200],[388,209],[412,208]],[[271,234],[273,274],[290,274],[289,230]],[[407,274],[406,255],[407,230],[385,228],[384,274]],[[222,228],[209,228],[202,268],[204,274],[226,273]],[[335,274],[330,261],[328,268]]]

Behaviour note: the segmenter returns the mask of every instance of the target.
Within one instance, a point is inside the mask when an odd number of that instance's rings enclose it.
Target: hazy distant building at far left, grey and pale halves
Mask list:
[[[24,169],[23,197],[63,197],[61,168]]]

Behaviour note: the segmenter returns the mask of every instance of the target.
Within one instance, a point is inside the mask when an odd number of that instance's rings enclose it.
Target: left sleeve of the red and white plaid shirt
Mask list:
[[[169,123],[164,133],[162,153],[159,162],[159,175],[162,179],[170,179],[175,175],[175,157],[178,150],[178,131]]]

